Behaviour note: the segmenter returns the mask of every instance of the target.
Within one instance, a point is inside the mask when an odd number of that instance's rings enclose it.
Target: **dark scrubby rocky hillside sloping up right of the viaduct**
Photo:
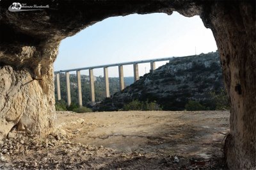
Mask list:
[[[223,77],[218,52],[173,58],[154,72],[122,92],[106,98],[95,106],[97,111],[115,111],[132,100],[154,102],[164,110],[184,110],[189,100],[200,102],[207,109],[215,109],[212,93],[223,89]]]

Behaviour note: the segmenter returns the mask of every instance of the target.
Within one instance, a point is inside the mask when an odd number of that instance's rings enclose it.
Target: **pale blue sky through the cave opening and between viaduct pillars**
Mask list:
[[[132,14],[110,17],[62,40],[54,71],[216,50],[212,31],[205,28],[199,16],[184,17],[177,12]],[[166,62],[157,62],[156,67]],[[149,70],[150,63],[139,65],[140,76]],[[81,73],[88,75],[88,70]],[[93,73],[103,75],[103,69]],[[124,76],[133,76],[132,65],[124,66]],[[109,67],[109,77],[118,77],[117,66]]]

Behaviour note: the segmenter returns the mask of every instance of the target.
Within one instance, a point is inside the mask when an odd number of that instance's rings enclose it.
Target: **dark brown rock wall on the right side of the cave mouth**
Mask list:
[[[230,169],[256,169],[255,2],[251,4],[214,3],[203,15],[218,45],[230,95],[230,135],[225,146]]]

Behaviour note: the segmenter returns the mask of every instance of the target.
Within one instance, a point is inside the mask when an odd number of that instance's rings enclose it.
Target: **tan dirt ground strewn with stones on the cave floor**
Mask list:
[[[58,112],[47,138],[17,132],[1,143],[0,169],[225,169],[229,114]]]

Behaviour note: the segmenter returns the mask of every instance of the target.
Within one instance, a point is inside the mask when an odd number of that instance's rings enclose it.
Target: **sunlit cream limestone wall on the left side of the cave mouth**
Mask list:
[[[52,64],[58,43],[45,48],[21,46],[17,51],[12,56],[0,55],[4,61],[0,66],[0,139],[13,127],[28,134],[48,134],[56,120]]]

